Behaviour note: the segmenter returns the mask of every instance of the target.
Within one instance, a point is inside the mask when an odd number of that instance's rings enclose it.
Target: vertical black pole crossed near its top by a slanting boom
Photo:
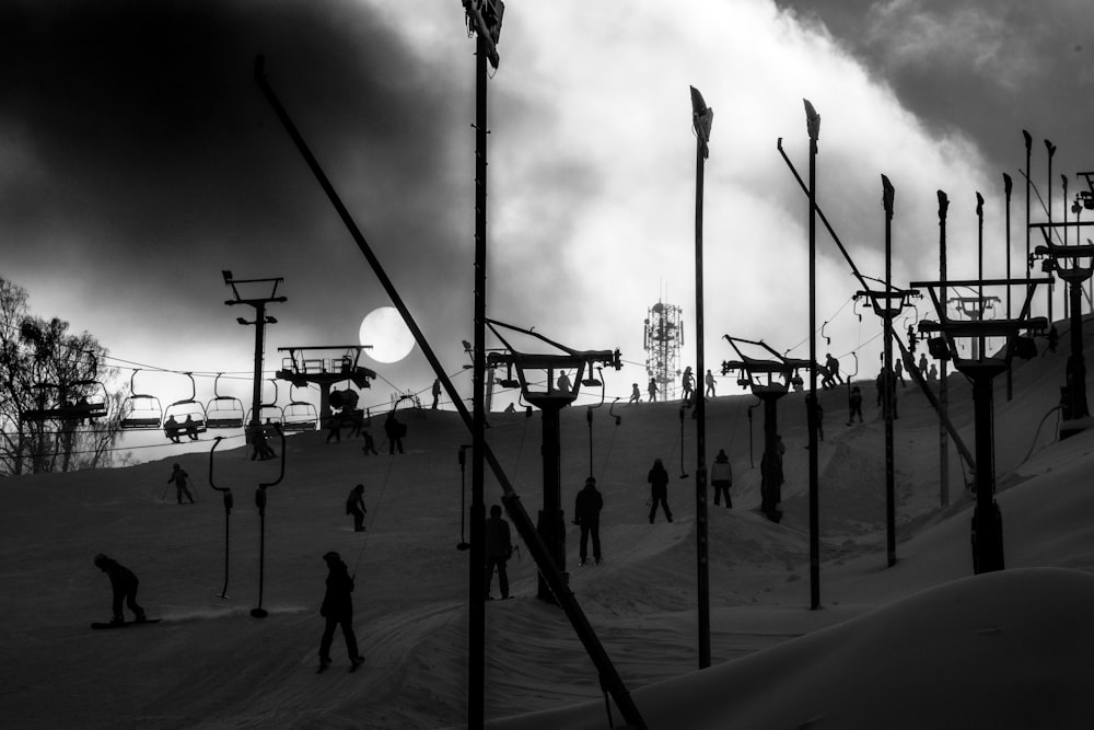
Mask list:
[[[817,450],[817,200],[816,158],[821,115],[805,101],[805,127],[810,135],[810,402],[806,420],[810,432],[810,607],[821,607],[821,508],[819,460]]]

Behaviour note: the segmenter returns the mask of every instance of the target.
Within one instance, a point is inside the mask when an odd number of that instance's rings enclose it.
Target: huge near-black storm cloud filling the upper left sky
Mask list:
[[[337,0],[7,3],[5,274],[55,264],[58,279],[102,276],[114,297],[221,318],[220,268],[283,275],[282,322],[356,334],[365,306],[388,302],[254,82],[265,54],[393,278],[443,300],[453,241],[470,250],[446,152],[469,115],[447,71],[386,22]],[[214,296],[196,301],[195,281]]]

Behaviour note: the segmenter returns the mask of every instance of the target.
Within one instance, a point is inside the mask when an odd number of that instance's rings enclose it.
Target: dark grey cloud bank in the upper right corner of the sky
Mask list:
[[[991,167],[1024,165],[1021,130],[1094,163],[1094,16],[1072,0],[776,0],[834,38],[939,134],[976,143]],[[1035,158],[1036,160],[1037,158]],[[1036,175],[1038,167],[1034,166]],[[945,181],[939,181],[940,187]]]

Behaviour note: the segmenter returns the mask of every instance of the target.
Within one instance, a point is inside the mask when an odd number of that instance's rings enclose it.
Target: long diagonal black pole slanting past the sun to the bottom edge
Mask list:
[[[418,323],[415,321],[414,316],[411,316],[410,310],[403,301],[403,298],[396,290],[395,285],[388,278],[387,273],[380,264],[380,259],[376,258],[375,254],[372,251],[372,247],[369,245],[364,235],[361,233],[361,230],[357,227],[357,223],[353,221],[352,216],[350,216],[349,211],[346,209],[346,206],[338,197],[338,194],[335,190],[334,186],[327,179],[327,176],[326,174],[324,174],[323,169],[319,166],[319,163],[316,161],[315,157],[312,154],[312,151],[309,149],[307,143],[304,141],[304,138],[301,136],[300,131],[298,131],[296,126],[292,123],[292,119],[289,117],[288,112],[286,112],[284,107],[281,105],[281,102],[278,100],[277,94],[274,92],[274,89],[266,80],[263,67],[264,67],[264,57],[259,56],[255,60],[255,80],[261,88],[263,93],[266,95],[267,101],[274,108],[274,112],[277,114],[286,131],[289,134],[289,137],[292,138],[292,141],[295,143],[298,151],[304,158],[304,161],[311,169],[312,174],[316,178],[316,182],[318,182],[319,187],[322,187],[324,193],[326,193],[327,198],[330,200],[330,204],[338,212],[338,216],[341,218],[342,223],[346,225],[346,229],[348,230],[350,236],[352,236],[353,241],[361,250],[361,254],[364,256],[365,260],[369,262],[369,266],[372,268],[373,274],[380,281],[380,285],[384,288],[384,291],[391,298],[392,303],[399,311],[399,314],[403,315],[403,321],[406,323],[407,328],[414,335],[415,341],[418,344],[418,347],[421,348],[422,355],[426,356],[426,359],[429,361],[429,364],[433,369],[433,372],[437,375],[438,380],[441,381],[441,385],[444,387],[445,393],[447,393],[449,398],[452,401],[453,406],[455,406],[456,412],[459,414],[459,417],[463,418],[464,424],[466,424],[467,428],[474,432],[475,422],[474,419],[472,418],[472,414],[467,410],[467,406],[464,404],[463,399],[459,396],[459,393],[455,389],[455,385],[453,385],[452,380],[444,371],[444,368],[441,367],[440,360],[437,358],[437,355],[433,352],[432,347],[430,347],[429,343],[427,341],[426,336],[422,334],[421,328],[418,326]],[[613,699],[615,699],[616,706],[622,714],[624,719],[638,730],[644,730],[648,726],[645,725],[645,721],[642,719],[642,716],[639,714],[638,706],[635,705],[635,702],[630,696],[630,692],[627,690],[626,685],[622,682],[622,677],[619,676],[619,673],[616,671],[615,665],[612,663],[610,658],[607,656],[607,652],[604,650],[603,645],[596,637],[595,631],[593,631],[592,625],[590,625],[589,619],[585,617],[585,614],[581,611],[581,606],[578,605],[577,599],[574,598],[573,593],[570,592],[570,589],[567,586],[566,580],[562,577],[562,573],[555,566],[555,563],[550,557],[550,552],[548,551],[546,543],[544,543],[543,538],[539,536],[539,533],[536,531],[535,523],[532,521],[532,518],[528,517],[527,511],[525,511],[524,506],[521,503],[520,496],[513,490],[513,486],[510,483],[509,477],[505,475],[504,471],[501,468],[501,464],[498,461],[498,457],[490,449],[490,445],[485,441],[482,442],[482,456],[486,460],[487,465],[490,467],[490,471],[498,479],[498,484],[501,486],[502,491],[504,493],[504,496],[502,497],[502,503],[505,506],[510,519],[513,520],[513,524],[516,528],[517,533],[520,533],[521,537],[527,545],[528,552],[532,554],[532,557],[536,561],[536,566],[539,568],[539,571],[544,575],[544,578],[550,586],[551,590],[555,592],[555,596],[558,599],[559,606],[561,606],[561,609],[566,612],[567,618],[569,618],[571,626],[573,626],[574,633],[577,633],[578,638],[585,647],[585,651],[589,653],[589,658],[592,660],[597,671],[604,677],[604,682],[606,686],[609,688],[612,697]],[[473,528],[475,526],[474,521],[472,523],[472,526]],[[481,535],[476,535],[473,532],[472,541],[474,542],[476,537],[478,537],[479,541],[481,541]],[[474,545],[472,554],[473,556],[475,554]],[[481,566],[481,561],[479,563],[479,566]],[[482,579],[485,581],[486,573],[481,570],[481,568],[478,569],[478,573],[482,576]],[[486,601],[485,587],[480,595],[473,596],[472,600],[485,602]]]

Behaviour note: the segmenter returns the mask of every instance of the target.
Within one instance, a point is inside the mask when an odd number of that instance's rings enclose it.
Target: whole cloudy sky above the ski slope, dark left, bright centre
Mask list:
[[[803,99],[822,116],[818,204],[864,274],[884,275],[885,174],[898,286],[938,278],[938,189],[951,199],[950,276],[978,270],[976,192],[985,274],[1003,276],[1003,172],[1024,273],[1022,129],[1045,194],[1043,140],[1058,148],[1057,218],[1060,174],[1073,196],[1091,164],[1082,4],[689,0],[666,13],[652,0],[510,0],[488,81],[488,316],[575,349],[618,347],[628,364],[606,390],[626,397],[647,379],[643,320],[665,301],[683,309],[680,366],[694,364],[690,85],[714,109],[703,276],[715,373],[735,356],[724,334],[808,355],[808,206],[776,148],[782,138],[806,174]],[[4,3],[2,275],[34,313],[98,337],[112,364],[249,372],[253,331],[235,318],[252,313],[224,305],[222,269],[284,278],[267,370],[278,347],[358,344],[362,318],[391,302],[254,82],[258,54],[469,395],[475,61],[456,0]],[[817,326],[831,338],[818,354],[876,372],[876,317],[857,316],[859,283],[818,231]],[[906,321],[928,315],[923,299]],[[365,402],[433,379],[417,348],[365,364],[381,376]],[[243,378],[221,390],[249,392]],[[148,387],[171,397],[188,383]]]

